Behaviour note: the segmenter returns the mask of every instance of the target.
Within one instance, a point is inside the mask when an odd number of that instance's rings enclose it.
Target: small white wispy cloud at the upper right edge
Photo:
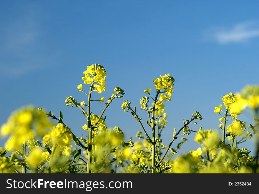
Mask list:
[[[244,43],[259,37],[259,25],[258,22],[247,21],[236,24],[232,28],[210,29],[205,36],[219,44]]]

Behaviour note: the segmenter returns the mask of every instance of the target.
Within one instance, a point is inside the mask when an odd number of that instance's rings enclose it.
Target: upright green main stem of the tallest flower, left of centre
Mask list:
[[[88,153],[87,153],[87,170],[86,173],[90,173],[90,166],[92,160],[92,125],[91,125],[91,112],[90,112],[90,104],[91,104],[91,92],[93,89],[94,82],[91,83],[88,95],[88,107],[87,107],[87,124],[88,124]]]

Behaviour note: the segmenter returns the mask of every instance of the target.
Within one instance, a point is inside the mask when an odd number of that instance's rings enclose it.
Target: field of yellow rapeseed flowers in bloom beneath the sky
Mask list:
[[[124,99],[120,87],[106,91],[107,76],[102,65],[89,65],[77,86],[86,100],[64,97],[64,105],[85,118],[81,137],[65,124],[66,115],[59,110],[26,106],[14,111],[1,126],[1,136],[8,140],[0,147],[0,173],[259,173],[259,85],[219,96],[222,103],[211,110],[218,115],[217,130],[197,127],[202,120],[199,110],[187,113],[179,121],[181,128],[167,129],[165,106],[173,103],[175,82],[171,74],[150,80],[150,87],[138,94],[138,105]],[[92,97],[94,92],[98,99]],[[110,97],[102,97],[103,92]],[[135,142],[124,138],[123,126],[106,125],[107,108],[120,98],[122,114],[134,117],[141,128],[131,134],[138,138]],[[92,112],[93,101],[103,104],[102,112]],[[251,113],[253,123],[239,119],[244,110]],[[163,142],[164,129],[172,131],[168,145]],[[189,141],[200,147],[179,154],[190,134]],[[176,144],[177,138],[181,141]],[[253,140],[253,150],[243,147],[248,139]]]

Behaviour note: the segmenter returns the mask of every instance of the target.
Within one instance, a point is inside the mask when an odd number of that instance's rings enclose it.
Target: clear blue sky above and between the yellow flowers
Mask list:
[[[136,141],[141,129],[121,103],[131,101],[145,121],[142,91],[154,92],[152,78],[166,73],[175,78],[175,93],[165,103],[165,145],[195,110],[203,120],[193,130],[217,129],[220,117],[213,110],[220,97],[259,81],[258,6],[258,1],[1,1],[0,125],[12,111],[33,104],[57,115],[61,110],[64,122],[82,134],[85,117],[64,100],[70,95],[86,100],[77,85],[88,65],[100,63],[107,71],[106,92],[94,97],[107,99],[114,87],[124,89],[105,115],[108,127],[119,126],[127,138]],[[92,112],[100,114],[103,106],[96,102]],[[249,111],[240,118],[251,122],[247,116]],[[187,137],[182,151],[199,146],[193,138]],[[252,142],[245,146],[253,148]]]

